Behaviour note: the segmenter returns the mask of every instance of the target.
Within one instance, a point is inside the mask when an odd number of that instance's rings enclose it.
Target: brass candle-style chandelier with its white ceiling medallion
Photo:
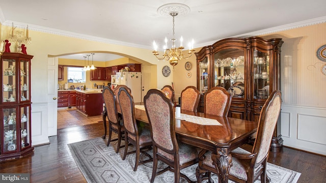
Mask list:
[[[153,41],[153,47],[154,47],[154,50],[152,51],[154,53],[154,55],[156,56],[157,59],[159,60],[162,60],[162,59],[165,59],[165,60],[169,60],[169,63],[170,65],[173,66],[176,66],[178,64],[178,61],[181,59],[181,58],[184,58],[184,59],[188,59],[189,57],[191,57],[194,53],[194,40],[189,43],[189,51],[187,53],[187,55],[184,55],[182,53],[182,50],[184,49],[184,47],[182,46],[182,42],[183,42],[183,38],[181,36],[180,38],[180,46],[177,48],[175,46],[175,36],[174,36],[174,17],[177,16],[179,14],[179,11],[181,11],[181,14],[186,14],[188,11],[189,11],[189,7],[187,7],[186,5],[183,5],[183,4],[176,4],[176,3],[173,3],[173,4],[167,4],[167,5],[164,5],[164,6],[161,6],[158,8],[157,12],[159,14],[167,14],[166,11],[169,11],[169,15],[171,15],[173,17],[173,28],[172,28],[172,47],[171,48],[168,48],[168,39],[165,38],[165,45],[164,45],[164,54],[162,55],[162,57],[159,57],[159,53],[157,51],[157,45],[155,43],[155,41]]]

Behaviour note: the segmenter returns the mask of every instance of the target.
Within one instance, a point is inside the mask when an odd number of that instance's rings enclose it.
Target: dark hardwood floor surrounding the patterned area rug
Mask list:
[[[86,182],[67,144],[102,135],[102,123],[60,129],[50,144],[36,146],[33,154],[0,163],[0,172],[30,173],[31,182]],[[268,162],[301,172],[298,182],[326,182],[326,157],[282,147],[269,154]]]

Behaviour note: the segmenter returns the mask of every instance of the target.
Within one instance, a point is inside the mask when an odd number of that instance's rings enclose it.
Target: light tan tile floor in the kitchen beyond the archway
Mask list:
[[[89,116],[77,112],[76,108],[72,107],[71,109],[58,109],[58,129],[84,126],[94,123],[102,123],[102,116]]]

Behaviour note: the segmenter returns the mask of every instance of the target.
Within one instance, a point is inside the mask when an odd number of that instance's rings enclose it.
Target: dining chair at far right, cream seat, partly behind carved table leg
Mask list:
[[[264,103],[258,121],[257,138],[251,151],[244,150],[240,147],[231,151],[232,166],[229,170],[229,179],[236,182],[254,182],[260,177],[262,183],[266,182],[266,166],[270,149],[271,139],[281,110],[281,92],[274,90]],[[211,151],[200,154],[199,177],[201,182],[202,175],[206,172],[218,173],[218,169],[213,164],[211,157],[216,157]],[[205,178],[207,179],[207,178]],[[208,181],[212,182],[211,177]]]

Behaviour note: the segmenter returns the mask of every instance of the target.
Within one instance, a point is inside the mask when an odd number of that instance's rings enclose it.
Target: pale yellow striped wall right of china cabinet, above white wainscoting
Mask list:
[[[283,104],[326,107],[326,65],[316,56],[317,49],[326,44],[326,23],[289,29],[261,36],[282,38],[281,91]]]

